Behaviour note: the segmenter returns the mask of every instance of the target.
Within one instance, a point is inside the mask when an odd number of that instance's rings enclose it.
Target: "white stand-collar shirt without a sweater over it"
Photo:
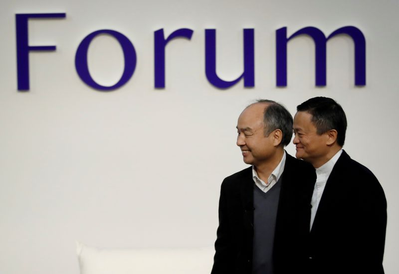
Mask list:
[[[333,170],[335,163],[337,162],[338,158],[342,154],[342,149],[335,153],[335,155],[328,160],[325,164],[316,168],[316,183],[313,189],[312,201],[310,204],[312,205],[311,215],[310,215],[310,229],[312,229],[313,222],[315,220],[317,208],[319,207],[321,196],[323,195],[324,188],[326,187],[326,183],[328,177]]]

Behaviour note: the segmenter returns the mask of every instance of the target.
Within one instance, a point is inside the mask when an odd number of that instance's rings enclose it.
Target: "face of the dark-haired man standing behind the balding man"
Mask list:
[[[310,162],[314,167],[320,167],[325,162],[325,156],[329,151],[326,145],[327,134],[318,135],[316,126],[311,121],[312,115],[299,111],[294,117],[294,140],[296,146],[295,156]]]

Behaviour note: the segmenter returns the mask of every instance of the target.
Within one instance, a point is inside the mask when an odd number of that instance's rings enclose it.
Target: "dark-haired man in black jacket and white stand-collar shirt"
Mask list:
[[[331,98],[297,107],[296,157],[316,168],[308,273],[384,274],[387,201],[374,174],[342,149],[347,121]]]

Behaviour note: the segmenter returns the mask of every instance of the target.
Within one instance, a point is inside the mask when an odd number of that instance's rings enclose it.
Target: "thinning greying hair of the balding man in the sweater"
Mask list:
[[[293,125],[289,111],[282,104],[272,100],[259,99],[254,104],[257,103],[267,104],[263,113],[264,136],[269,136],[271,132],[278,129],[283,134],[281,144],[283,146],[288,145],[292,138]]]

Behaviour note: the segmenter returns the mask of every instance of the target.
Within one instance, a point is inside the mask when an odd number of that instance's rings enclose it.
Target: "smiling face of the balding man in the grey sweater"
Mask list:
[[[258,166],[267,161],[274,151],[273,134],[265,137],[263,113],[267,104],[258,103],[246,108],[238,117],[237,145],[247,164]]]

